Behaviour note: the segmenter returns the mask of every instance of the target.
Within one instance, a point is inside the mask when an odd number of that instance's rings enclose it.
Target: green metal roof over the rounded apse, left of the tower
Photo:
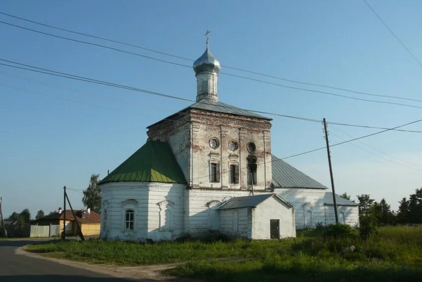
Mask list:
[[[118,181],[186,183],[170,145],[162,141],[146,141],[99,184]]]

